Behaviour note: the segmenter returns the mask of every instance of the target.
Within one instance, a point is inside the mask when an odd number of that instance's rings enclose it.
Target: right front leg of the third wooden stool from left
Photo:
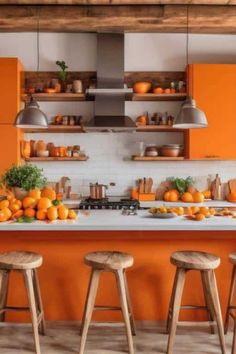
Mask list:
[[[225,338],[224,338],[224,325],[221,315],[221,307],[218,295],[218,289],[216,284],[215,273],[213,270],[204,271],[206,274],[206,281],[207,281],[207,290],[210,294],[215,318],[218,327],[219,339],[220,339],[220,346],[222,354],[226,354],[226,347],[225,347]]]

